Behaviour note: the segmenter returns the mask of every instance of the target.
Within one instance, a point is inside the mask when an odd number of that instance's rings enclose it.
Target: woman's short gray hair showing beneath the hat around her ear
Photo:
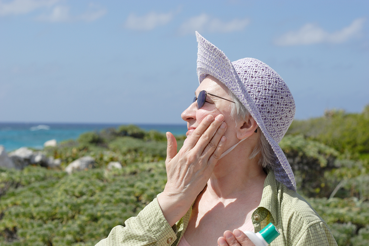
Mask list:
[[[228,89],[228,88],[227,88]],[[231,96],[232,101],[235,103],[231,103],[231,117],[236,121],[242,121],[243,119],[249,117],[250,113],[245,108],[245,106],[238,100],[238,98],[231,92],[230,89],[228,89],[228,94]],[[254,158],[258,153],[261,153],[261,157],[259,159],[259,165],[261,165],[263,168],[271,168],[275,166],[275,154],[272,149],[272,146],[270,146],[268,140],[266,140],[264,134],[262,131],[260,131],[259,128],[259,139],[258,143],[256,143],[256,146],[254,150],[251,152],[249,159]]]

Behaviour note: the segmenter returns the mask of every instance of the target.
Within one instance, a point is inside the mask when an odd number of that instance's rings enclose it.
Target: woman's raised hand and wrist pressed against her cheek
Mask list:
[[[215,119],[208,115],[178,153],[175,137],[167,132],[165,166],[168,181],[158,202],[170,226],[186,214],[213,173],[226,142],[223,134],[227,125],[223,121],[221,114]]]

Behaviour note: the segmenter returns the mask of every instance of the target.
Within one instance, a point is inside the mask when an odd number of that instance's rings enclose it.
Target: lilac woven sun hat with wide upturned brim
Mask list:
[[[278,143],[295,115],[295,102],[283,79],[265,63],[244,58],[231,62],[225,54],[196,32],[197,76],[201,83],[211,75],[232,91],[258,123],[275,153],[275,178],[296,191],[296,181]]]

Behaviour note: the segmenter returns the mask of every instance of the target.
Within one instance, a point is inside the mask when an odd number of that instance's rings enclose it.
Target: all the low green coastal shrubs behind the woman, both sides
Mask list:
[[[369,105],[293,121],[280,146],[298,192],[330,227],[338,245],[369,245]],[[178,149],[185,136],[176,136]],[[0,169],[1,245],[94,245],[141,211],[166,183],[166,137],[134,125],[87,132],[46,147],[59,168]],[[93,169],[65,167],[92,156]],[[119,162],[122,168],[107,168]]]

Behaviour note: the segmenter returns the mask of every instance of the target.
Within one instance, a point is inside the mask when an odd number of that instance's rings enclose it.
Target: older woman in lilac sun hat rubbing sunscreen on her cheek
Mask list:
[[[287,85],[265,63],[231,63],[196,35],[200,85],[178,153],[167,132],[164,191],[97,245],[248,246],[242,231],[270,222],[281,232],[270,245],[337,245],[278,146],[295,112]]]

